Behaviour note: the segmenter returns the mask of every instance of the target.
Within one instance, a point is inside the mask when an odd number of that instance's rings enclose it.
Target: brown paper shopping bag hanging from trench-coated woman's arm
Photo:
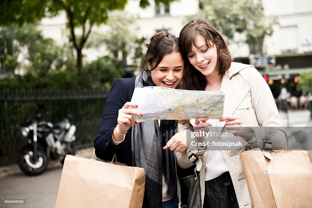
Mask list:
[[[271,160],[259,148],[240,154],[253,207],[311,207],[311,153],[284,150],[270,155]]]

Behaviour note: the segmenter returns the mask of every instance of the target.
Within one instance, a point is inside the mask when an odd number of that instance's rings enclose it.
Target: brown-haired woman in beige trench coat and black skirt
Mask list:
[[[264,135],[249,127],[281,127],[272,149],[284,148],[285,132],[271,90],[254,66],[231,62],[220,32],[205,19],[185,25],[180,32],[180,42],[185,56],[181,88],[225,93],[221,119],[202,117],[182,123],[190,122],[194,127],[210,130],[221,127],[222,131],[242,137],[246,140],[242,141],[252,147],[262,147]],[[248,127],[251,132],[242,135],[242,127]],[[197,151],[177,153],[180,167],[188,168],[193,163],[201,173],[202,207],[252,207],[239,151],[197,146]]]

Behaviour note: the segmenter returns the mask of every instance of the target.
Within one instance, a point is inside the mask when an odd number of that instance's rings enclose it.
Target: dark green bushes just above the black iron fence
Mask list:
[[[0,81],[1,88],[40,88],[40,89],[109,89],[113,81],[124,75],[121,61],[108,56],[85,64],[82,76],[71,70],[49,70],[47,73],[28,71],[25,75],[15,75]]]

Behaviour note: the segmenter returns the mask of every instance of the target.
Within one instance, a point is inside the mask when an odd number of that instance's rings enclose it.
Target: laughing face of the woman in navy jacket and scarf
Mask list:
[[[148,64],[149,68],[151,67]],[[180,52],[163,56],[156,69],[151,71],[154,84],[159,87],[176,88],[182,80],[184,61]]]

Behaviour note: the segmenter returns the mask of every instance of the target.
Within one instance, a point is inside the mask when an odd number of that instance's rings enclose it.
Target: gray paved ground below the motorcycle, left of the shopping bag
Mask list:
[[[93,150],[81,149],[77,155],[92,158]],[[27,176],[18,167],[12,168],[11,175],[0,179],[0,207],[55,207],[62,170],[61,162],[51,162],[46,171],[38,176]],[[7,199],[26,200],[26,204],[6,204],[3,201]]]

